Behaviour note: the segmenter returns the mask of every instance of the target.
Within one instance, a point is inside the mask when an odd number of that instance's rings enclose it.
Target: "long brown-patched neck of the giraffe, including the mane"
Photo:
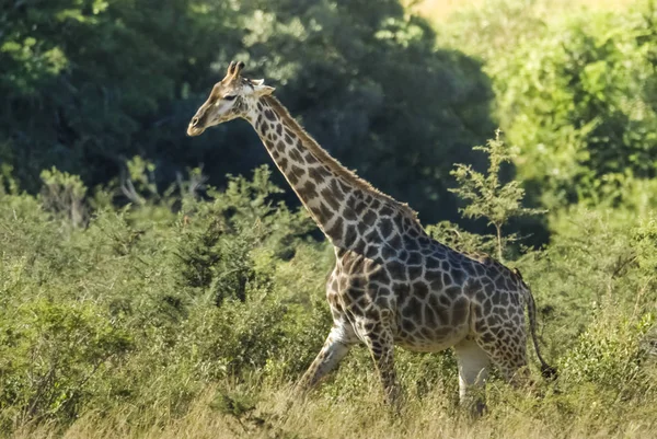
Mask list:
[[[287,109],[265,96],[247,112],[265,148],[336,247],[374,254],[424,231],[406,206],[374,189],[323,150]],[[401,247],[401,242],[397,247]]]

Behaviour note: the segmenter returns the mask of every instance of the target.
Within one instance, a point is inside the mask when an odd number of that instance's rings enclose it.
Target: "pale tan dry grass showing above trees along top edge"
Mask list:
[[[431,21],[440,22],[449,18],[450,14],[462,9],[479,9],[489,3],[492,0],[418,0],[408,1],[413,4],[413,10]],[[577,7],[587,7],[598,10],[622,10],[626,9],[635,0],[541,0],[542,3],[554,8],[568,9]]]

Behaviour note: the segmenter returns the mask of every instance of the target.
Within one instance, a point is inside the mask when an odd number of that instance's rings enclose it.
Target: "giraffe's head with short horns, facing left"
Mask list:
[[[189,122],[188,136],[198,136],[206,128],[244,117],[250,104],[261,96],[272,94],[274,88],[265,85],[262,79],[242,78],[243,68],[242,61],[232,61],[228,66],[226,78],[212,86],[209,97]]]

